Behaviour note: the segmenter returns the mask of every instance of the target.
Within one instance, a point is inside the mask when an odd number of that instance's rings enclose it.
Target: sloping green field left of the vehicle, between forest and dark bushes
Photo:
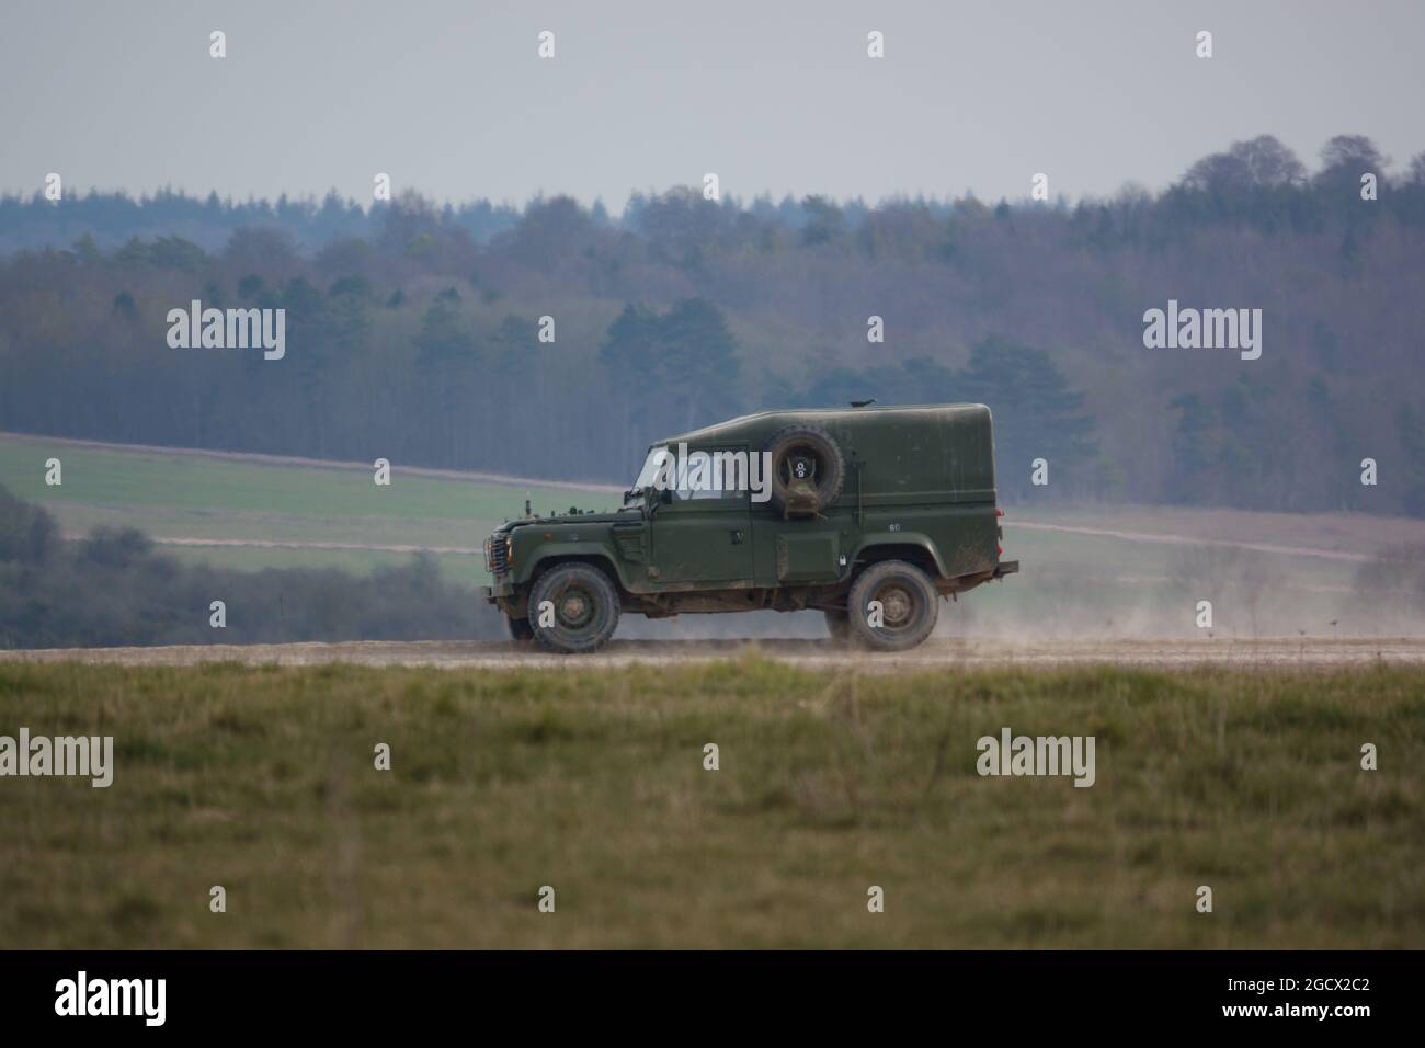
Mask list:
[[[58,458],[64,482],[44,483],[44,462]],[[484,536],[524,499],[542,512],[570,505],[608,508],[617,495],[537,485],[413,476],[392,471],[389,488],[370,469],[333,469],[241,461],[182,451],[77,445],[0,436],[0,483],[53,512],[66,533],[138,528],[155,538],[249,542],[351,543],[479,549]],[[352,572],[409,559],[376,549],[332,550],[265,546],[174,546],[175,555],[242,570],[338,566]],[[452,577],[486,580],[479,555],[443,553]]]

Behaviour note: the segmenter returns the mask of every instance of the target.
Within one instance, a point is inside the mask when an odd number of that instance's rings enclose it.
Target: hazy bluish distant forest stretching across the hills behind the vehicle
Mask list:
[[[1361,135],[1079,202],[37,194],[0,252],[6,431],[627,482],[741,412],[982,401],[1009,502],[1425,516],[1425,154]],[[285,358],[170,348],[191,299],[285,308]],[[1168,299],[1260,308],[1261,359],[1144,348]]]

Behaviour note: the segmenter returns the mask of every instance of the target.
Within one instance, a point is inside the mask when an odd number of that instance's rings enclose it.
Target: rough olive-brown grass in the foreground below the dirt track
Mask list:
[[[117,769],[0,780],[6,947],[1425,947],[1419,669],[0,664],[20,726]]]

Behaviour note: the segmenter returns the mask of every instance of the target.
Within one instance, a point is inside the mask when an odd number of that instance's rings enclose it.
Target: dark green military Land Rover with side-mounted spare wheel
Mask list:
[[[765,411],[648,449],[617,512],[524,516],[484,543],[516,642],[593,652],[618,616],[821,610],[832,637],[915,647],[1000,560],[989,408]]]

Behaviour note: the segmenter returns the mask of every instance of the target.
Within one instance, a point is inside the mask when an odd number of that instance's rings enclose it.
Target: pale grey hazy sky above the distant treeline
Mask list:
[[[228,57],[208,56],[227,33]],[[551,30],[556,57],[537,57]],[[866,57],[866,33],[885,58]],[[1211,30],[1214,57],[1194,56]],[[1261,133],[1425,150],[1425,3],[7,0],[0,190],[523,202],[1160,188]]]

